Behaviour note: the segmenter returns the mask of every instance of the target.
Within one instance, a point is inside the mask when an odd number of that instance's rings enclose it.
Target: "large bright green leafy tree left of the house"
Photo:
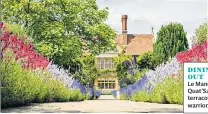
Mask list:
[[[85,51],[114,48],[116,32],[105,20],[108,9],[96,0],[3,0],[2,18],[26,28],[36,49],[56,64],[70,65]]]

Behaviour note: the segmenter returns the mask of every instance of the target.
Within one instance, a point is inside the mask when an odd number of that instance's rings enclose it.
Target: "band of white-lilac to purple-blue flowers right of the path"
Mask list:
[[[176,74],[180,69],[179,62],[176,58],[173,58],[171,61],[166,62],[166,64],[161,64],[155,68],[155,70],[149,70],[145,75],[136,83],[128,85],[124,88],[121,88],[121,94],[128,94],[132,96],[135,91],[146,90],[150,93],[155,85],[163,81],[167,76]]]

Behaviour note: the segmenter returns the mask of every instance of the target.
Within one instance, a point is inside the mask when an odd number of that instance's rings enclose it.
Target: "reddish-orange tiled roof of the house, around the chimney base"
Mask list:
[[[127,45],[125,47],[126,55],[141,55],[148,51],[153,51],[152,34],[128,34]],[[116,42],[120,45],[123,44],[122,34],[119,34],[116,38]]]

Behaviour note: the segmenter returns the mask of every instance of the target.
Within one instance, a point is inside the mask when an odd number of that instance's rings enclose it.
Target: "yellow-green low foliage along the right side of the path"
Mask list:
[[[152,103],[183,104],[183,84],[181,75],[178,77],[167,77],[156,84],[148,94],[146,90],[135,91],[131,100]]]

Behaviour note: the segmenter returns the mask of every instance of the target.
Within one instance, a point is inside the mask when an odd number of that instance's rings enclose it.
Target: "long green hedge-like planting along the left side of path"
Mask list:
[[[31,102],[80,101],[79,90],[68,90],[45,70],[25,69],[11,51],[6,51],[1,63],[2,108]]]

